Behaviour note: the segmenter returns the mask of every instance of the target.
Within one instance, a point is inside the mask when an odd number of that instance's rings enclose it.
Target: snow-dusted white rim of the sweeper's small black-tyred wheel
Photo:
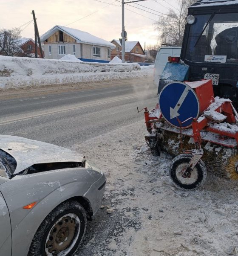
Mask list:
[[[191,185],[196,182],[198,179],[198,169],[196,167],[193,168],[190,177],[184,178],[182,175],[186,171],[188,163],[181,163],[176,168],[176,177],[178,181],[182,184]]]

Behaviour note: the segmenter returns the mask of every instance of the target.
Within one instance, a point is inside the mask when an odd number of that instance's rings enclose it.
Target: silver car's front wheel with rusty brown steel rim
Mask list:
[[[86,224],[86,212],[81,204],[63,202],[42,221],[28,256],[72,256],[83,239]]]

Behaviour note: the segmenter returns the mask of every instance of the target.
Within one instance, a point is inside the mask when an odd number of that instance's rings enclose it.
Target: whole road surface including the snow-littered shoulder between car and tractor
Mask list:
[[[137,105],[154,107],[156,90],[123,83],[0,102],[1,133],[76,149],[107,175],[103,207],[76,256],[238,255],[238,183],[208,174],[197,191],[176,189],[171,157],[151,156],[143,113],[136,113]]]

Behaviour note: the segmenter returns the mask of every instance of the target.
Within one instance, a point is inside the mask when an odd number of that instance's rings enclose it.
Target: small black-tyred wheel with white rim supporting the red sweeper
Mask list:
[[[189,177],[183,177],[188,163],[193,156],[191,154],[180,154],[175,157],[170,164],[170,178],[173,184],[182,190],[195,190],[198,189],[207,177],[207,168],[202,160],[199,160],[193,168]]]

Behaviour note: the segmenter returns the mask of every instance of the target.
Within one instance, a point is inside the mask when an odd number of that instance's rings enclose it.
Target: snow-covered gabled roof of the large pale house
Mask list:
[[[45,32],[45,34],[43,34],[40,37],[40,40],[45,41],[51,35],[53,35],[55,32],[57,32],[58,30],[61,30],[65,34],[67,34],[67,35],[71,36],[72,38],[76,39],[77,43],[84,43],[84,44],[91,44],[91,45],[95,44],[97,46],[110,47],[111,49],[115,48],[114,44],[112,44],[112,43],[110,43],[110,42],[108,42],[108,41],[106,41],[102,38],[98,38],[94,35],[91,35],[88,32],[84,32],[84,31],[81,31],[79,29],[68,28],[66,26],[59,26],[59,25],[56,25],[52,29]]]

